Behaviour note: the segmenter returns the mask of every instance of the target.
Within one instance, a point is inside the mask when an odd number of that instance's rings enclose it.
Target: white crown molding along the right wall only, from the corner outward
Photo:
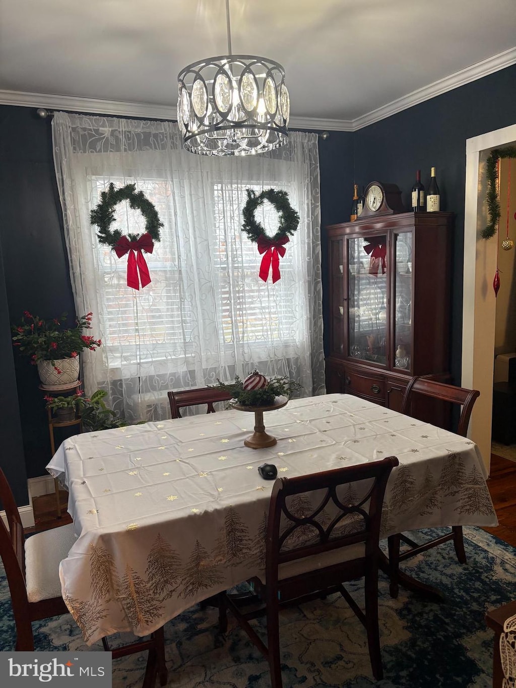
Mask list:
[[[374,122],[385,120],[385,118],[395,115],[402,110],[406,110],[413,105],[424,103],[424,100],[430,100],[430,98],[440,96],[440,94],[452,91],[459,86],[464,86],[471,81],[480,79],[483,76],[488,76],[488,74],[493,74],[493,72],[498,72],[500,69],[505,69],[505,67],[510,67],[510,65],[514,65],[515,63],[516,47],[511,47],[509,50],[493,55],[493,57],[489,57],[482,62],[477,62],[470,67],[460,69],[460,72],[455,72],[455,74],[451,74],[451,76],[434,81],[428,86],[424,86],[423,88],[409,93],[407,96],[393,100],[392,103],[387,103],[387,105],[378,107],[376,110],[372,110],[354,119],[353,131],[368,127],[374,124]]]

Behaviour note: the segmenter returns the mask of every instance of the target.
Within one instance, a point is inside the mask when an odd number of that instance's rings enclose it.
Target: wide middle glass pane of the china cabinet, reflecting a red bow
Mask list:
[[[348,356],[387,364],[387,236],[347,239]]]

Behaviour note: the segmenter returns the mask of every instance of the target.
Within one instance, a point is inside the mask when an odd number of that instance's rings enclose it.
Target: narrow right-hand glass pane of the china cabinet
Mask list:
[[[412,343],[412,233],[394,234],[394,368],[411,369]]]

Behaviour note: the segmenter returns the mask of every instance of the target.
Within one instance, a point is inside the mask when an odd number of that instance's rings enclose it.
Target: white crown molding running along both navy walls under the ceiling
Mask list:
[[[374,122],[384,120],[413,105],[423,103],[435,96],[463,86],[499,69],[505,69],[516,63],[516,47],[509,48],[497,55],[474,65],[460,69],[459,72],[446,76],[434,83],[424,86],[407,96],[402,96],[392,103],[387,103],[354,120],[319,119],[316,117],[290,118],[291,129],[327,129],[329,131],[357,131]],[[177,108],[173,105],[155,103],[127,103],[123,100],[102,100],[99,98],[80,98],[78,96],[60,96],[58,94],[25,93],[0,89],[0,105],[21,105],[23,107],[45,107],[50,110],[69,110],[72,112],[93,112],[102,115],[123,117],[142,117],[154,120],[177,119]]]

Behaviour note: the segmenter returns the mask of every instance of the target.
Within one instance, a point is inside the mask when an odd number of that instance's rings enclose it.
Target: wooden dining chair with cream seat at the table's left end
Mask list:
[[[58,526],[25,538],[14,495],[1,469],[0,502],[9,524],[8,530],[0,518],[0,557],[6,569],[17,634],[14,649],[32,652],[32,621],[69,614],[61,596],[59,563],[75,542],[74,528],[73,524]],[[103,645],[114,659],[148,649],[143,687],[153,688],[158,675],[160,685],[166,685],[163,627],[151,634],[149,640],[110,648],[103,638]]]

